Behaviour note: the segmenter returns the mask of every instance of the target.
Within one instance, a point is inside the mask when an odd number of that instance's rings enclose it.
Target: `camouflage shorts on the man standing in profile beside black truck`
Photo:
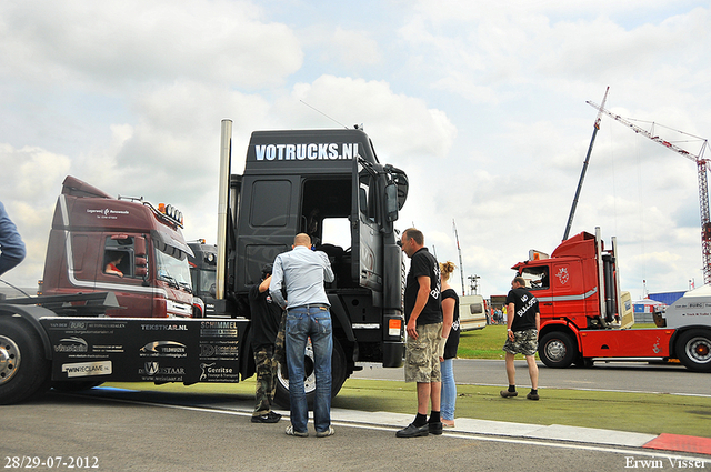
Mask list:
[[[441,382],[440,358],[437,348],[442,338],[442,323],[417,328],[418,339],[408,337],[404,353],[405,382]]]

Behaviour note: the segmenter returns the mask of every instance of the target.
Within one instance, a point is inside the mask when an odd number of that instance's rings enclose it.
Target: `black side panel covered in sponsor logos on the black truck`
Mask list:
[[[247,319],[64,318],[40,320],[52,381],[239,382]]]

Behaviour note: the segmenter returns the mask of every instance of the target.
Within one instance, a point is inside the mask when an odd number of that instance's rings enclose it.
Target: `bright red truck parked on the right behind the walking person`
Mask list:
[[[634,323],[629,292],[620,290],[617,242],[582,232],[548,257],[538,251],[512,269],[539,300],[539,356],[549,368],[590,366],[603,359],[678,359],[688,369],[711,372],[711,289],[688,292],[669,307],[658,328]],[[705,290],[705,291],[704,291]]]

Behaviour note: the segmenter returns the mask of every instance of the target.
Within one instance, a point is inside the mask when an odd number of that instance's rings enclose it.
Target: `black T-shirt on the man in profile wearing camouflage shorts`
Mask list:
[[[434,324],[442,322],[442,297],[440,294],[440,265],[437,263],[434,255],[430,254],[427,248],[420,249],[412,254],[410,261],[410,271],[408,272],[408,279],[404,288],[404,319],[405,322],[410,320],[412,309],[418,299],[418,291],[420,290],[420,282],[418,277],[430,278],[430,295],[427,299],[427,304],[422,309],[422,312],[418,317],[417,325]]]

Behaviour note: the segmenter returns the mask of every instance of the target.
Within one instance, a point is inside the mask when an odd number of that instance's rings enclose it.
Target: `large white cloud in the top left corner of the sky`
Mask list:
[[[283,82],[303,56],[289,28],[246,1],[23,1],[0,13],[3,74],[48,87],[178,78],[259,89]]]

